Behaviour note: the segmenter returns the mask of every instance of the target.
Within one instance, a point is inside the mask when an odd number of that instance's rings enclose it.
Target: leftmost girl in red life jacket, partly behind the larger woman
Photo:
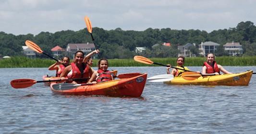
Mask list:
[[[59,60],[59,62],[56,62],[56,63],[52,64],[48,69],[49,70],[56,70],[56,77],[60,77],[62,71],[68,65],[69,65],[69,57],[64,56],[64,57],[61,58],[61,61]]]

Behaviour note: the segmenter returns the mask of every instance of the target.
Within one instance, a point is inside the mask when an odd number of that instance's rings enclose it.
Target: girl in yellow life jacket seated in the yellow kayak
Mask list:
[[[181,69],[184,69],[184,70],[189,70],[187,67],[183,67],[184,62],[185,62],[185,57],[184,56],[179,56],[177,58],[177,66],[176,66],[176,68],[181,68]],[[184,72],[184,70],[180,70],[180,69],[177,70],[177,69],[173,68],[171,73],[170,73],[171,64],[168,64],[167,66],[169,66],[169,67],[166,67],[167,74],[172,74],[174,77],[181,77],[181,74]]]

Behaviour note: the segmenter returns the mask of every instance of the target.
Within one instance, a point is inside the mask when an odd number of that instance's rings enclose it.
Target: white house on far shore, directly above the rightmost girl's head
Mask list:
[[[215,53],[219,44],[214,42],[202,42],[199,45],[200,55],[207,56],[208,53]]]

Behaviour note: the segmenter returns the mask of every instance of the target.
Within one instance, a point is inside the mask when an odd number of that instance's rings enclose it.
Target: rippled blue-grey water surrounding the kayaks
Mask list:
[[[200,70],[201,67],[189,67]],[[231,72],[256,67],[225,67]],[[120,73],[165,74],[165,67],[110,67]],[[47,68],[0,68],[0,134],[255,134],[256,75],[249,86],[146,83],[141,98],[53,95],[36,83],[13,89],[16,78],[42,80]]]

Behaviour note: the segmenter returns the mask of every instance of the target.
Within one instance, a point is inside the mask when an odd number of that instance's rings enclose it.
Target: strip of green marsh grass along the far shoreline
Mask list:
[[[176,66],[176,58],[149,58],[155,63],[161,63],[163,65],[171,64]],[[186,57],[185,66],[202,66],[206,57]],[[93,67],[97,67],[98,59],[93,60]],[[159,66],[159,65],[147,65],[134,61],[134,59],[108,59],[110,67],[141,67],[141,66]],[[222,66],[256,66],[256,56],[250,57],[231,57],[223,56],[216,57],[218,64]],[[51,59],[40,58],[27,58],[27,57],[12,57],[7,59],[0,59],[0,68],[12,68],[12,67],[49,67],[55,63]]]

